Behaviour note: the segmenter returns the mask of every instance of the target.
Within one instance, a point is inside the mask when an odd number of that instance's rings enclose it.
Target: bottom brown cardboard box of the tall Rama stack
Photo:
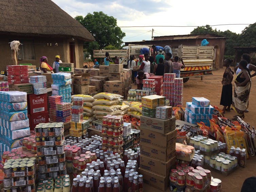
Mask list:
[[[169,187],[169,176],[161,176],[151,171],[139,168],[139,174],[143,175],[143,181],[152,187],[160,189],[161,191],[166,191]],[[151,189],[151,191],[154,191]]]

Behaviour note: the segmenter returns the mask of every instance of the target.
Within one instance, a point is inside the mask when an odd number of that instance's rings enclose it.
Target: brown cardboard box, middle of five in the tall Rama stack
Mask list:
[[[145,142],[140,142],[140,149],[142,155],[158,159],[164,162],[176,156],[175,139],[173,140],[173,143],[170,146],[170,150],[172,149],[171,151],[169,150],[169,148],[164,149],[162,147],[153,146]],[[167,152],[167,150],[170,152]]]

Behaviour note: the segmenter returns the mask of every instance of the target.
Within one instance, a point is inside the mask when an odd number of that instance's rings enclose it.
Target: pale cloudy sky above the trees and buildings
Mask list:
[[[117,19],[118,26],[212,26],[235,33],[256,22],[255,0],[53,0],[72,17],[102,11]],[[52,10],[54,11],[54,10]],[[185,35],[195,27],[122,27],[123,41],[151,40],[153,36]]]

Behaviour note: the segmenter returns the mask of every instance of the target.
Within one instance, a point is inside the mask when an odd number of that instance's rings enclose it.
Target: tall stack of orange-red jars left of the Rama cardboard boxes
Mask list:
[[[102,119],[102,150],[108,154],[123,153],[123,116],[104,116]]]

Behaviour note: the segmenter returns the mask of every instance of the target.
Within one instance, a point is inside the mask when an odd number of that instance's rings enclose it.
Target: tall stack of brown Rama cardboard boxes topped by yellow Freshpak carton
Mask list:
[[[165,97],[150,95],[142,97],[142,107],[154,113],[156,107],[164,105]],[[140,168],[144,181],[165,191],[169,185],[170,170],[176,165],[175,117],[169,119],[141,116]]]

